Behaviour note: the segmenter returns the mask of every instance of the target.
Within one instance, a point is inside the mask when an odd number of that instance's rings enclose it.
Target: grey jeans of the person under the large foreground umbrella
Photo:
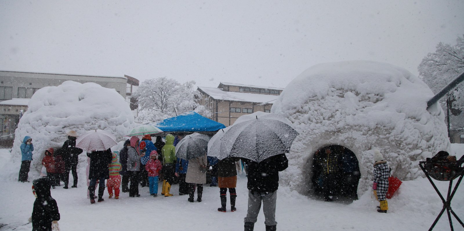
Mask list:
[[[258,193],[248,190],[248,212],[245,222],[255,223],[263,201],[264,225],[277,225],[276,222],[277,191],[272,193]]]

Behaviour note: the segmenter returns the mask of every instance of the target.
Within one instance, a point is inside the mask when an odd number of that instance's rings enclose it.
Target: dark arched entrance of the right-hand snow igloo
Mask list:
[[[326,201],[358,199],[360,178],[358,159],[350,149],[330,145],[314,154],[311,182],[316,196]]]

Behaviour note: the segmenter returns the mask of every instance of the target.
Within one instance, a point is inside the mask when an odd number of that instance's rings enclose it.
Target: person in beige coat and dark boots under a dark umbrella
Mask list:
[[[203,184],[206,184],[206,166],[208,160],[206,154],[203,156],[188,160],[187,175],[185,182],[188,183],[188,201],[193,202],[195,185],[197,186],[197,201],[201,202],[203,193]]]

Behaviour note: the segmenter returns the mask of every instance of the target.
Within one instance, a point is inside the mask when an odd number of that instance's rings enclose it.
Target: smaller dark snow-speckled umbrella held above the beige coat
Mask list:
[[[209,136],[199,133],[186,135],[179,141],[179,143],[177,143],[177,146],[175,147],[175,156],[184,160],[203,156],[208,150],[209,140]]]

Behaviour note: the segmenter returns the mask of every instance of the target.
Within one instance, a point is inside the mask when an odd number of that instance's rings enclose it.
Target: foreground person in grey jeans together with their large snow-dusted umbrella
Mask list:
[[[277,229],[275,214],[279,172],[288,167],[285,153],[289,152],[298,135],[291,125],[282,115],[258,111],[240,116],[218,142],[219,152],[215,154],[218,159],[240,157],[248,166],[245,231],[254,229],[261,204],[266,231]]]

